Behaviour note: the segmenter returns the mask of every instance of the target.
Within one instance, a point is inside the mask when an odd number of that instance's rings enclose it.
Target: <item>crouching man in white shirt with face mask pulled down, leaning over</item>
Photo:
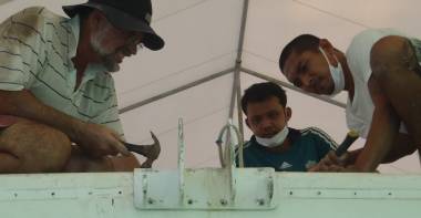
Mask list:
[[[357,34],[346,53],[328,40],[299,35],[283,50],[279,68],[306,92],[348,92],[347,123],[367,138],[356,162],[330,154],[316,170],[373,172],[421,148],[421,41],[391,29]]]

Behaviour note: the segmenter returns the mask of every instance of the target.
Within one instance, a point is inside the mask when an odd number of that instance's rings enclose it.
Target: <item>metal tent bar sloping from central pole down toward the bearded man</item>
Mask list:
[[[164,97],[171,96],[171,95],[173,95],[173,94],[176,94],[176,93],[178,93],[178,92],[182,92],[182,91],[188,90],[188,89],[194,87],[194,86],[196,86],[196,85],[199,85],[199,84],[202,84],[202,83],[206,83],[206,82],[212,81],[212,80],[214,80],[214,79],[220,77],[220,76],[223,76],[223,75],[226,75],[226,74],[228,74],[228,73],[232,73],[233,71],[234,71],[234,68],[232,68],[232,69],[227,69],[227,70],[224,70],[224,71],[220,71],[220,72],[218,72],[218,73],[215,73],[215,74],[212,74],[212,75],[208,75],[208,76],[205,76],[205,77],[203,77],[203,79],[199,79],[199,80],[197,80],[197,81],[194,81],[194,82],[187,83],[187,84],[182,85],[182,86],[179,86],[179,87],[176,87],[176,89],[174,89],[174,90],[170,90],[170,91],[167,91],[167,92],[161,93],[161,94],[158,94],[158,95],[155,95],[155,96],[150,97],[150,98],[147,98],[147,100],[144,100],[144,101],[142,101],[142,102],[137,102],[137,103],[134,103],[134,104],[132,104],[132,105],[125,106],[125,107],[119,110],[119,113],[120,113],[120,114],[126,113],[126,112],[129,112],[129,111],[132,111],[132,110],[135,110],[135,108],[137,108],[137,107],[141,107],[141,106],[143,106],[143,105],[145,105],[145,104],[148,104],[148,103],[155,102],[155,101],[157,101],[157,100],[161,100],[161,98],[164,98]]]

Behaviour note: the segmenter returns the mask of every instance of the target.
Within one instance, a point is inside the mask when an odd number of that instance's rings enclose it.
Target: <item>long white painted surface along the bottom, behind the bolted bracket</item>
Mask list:
[[[249,179],[240,172],[237,176]],[[1,175],[1,217],[396,218],[419,217],[421,205],[419,175],[277,173],[275,209],[141,210],[134,207],[133,178],[133,173]],[[198,195],[222,185],[195,183],[192,188]]]

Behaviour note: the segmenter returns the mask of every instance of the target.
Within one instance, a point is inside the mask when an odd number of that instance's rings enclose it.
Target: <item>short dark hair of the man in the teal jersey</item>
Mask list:
[[[285,90],[279,85],[266,82],[266,83],[256,83],[249,86],[242,97],[242,108],[243,112],[247,115],[247,104],[250,102],[264,102],[271,96],[276,96],[279,100],[279,104],[284,107],[287,105],[287,95]]]

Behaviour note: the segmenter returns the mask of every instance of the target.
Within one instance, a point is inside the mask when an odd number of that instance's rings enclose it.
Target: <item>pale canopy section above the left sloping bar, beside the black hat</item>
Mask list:
[[[227,18],[239,18],[243,2],[179,1],[182,6],[174,8],[167,2],[173,1],[154,1],[156,9],[165,6],[165,12],[153,22],[165,49],[141,51],[125,61],[124,73],[115,74],[123,105],[233,68],[239,19]]]

